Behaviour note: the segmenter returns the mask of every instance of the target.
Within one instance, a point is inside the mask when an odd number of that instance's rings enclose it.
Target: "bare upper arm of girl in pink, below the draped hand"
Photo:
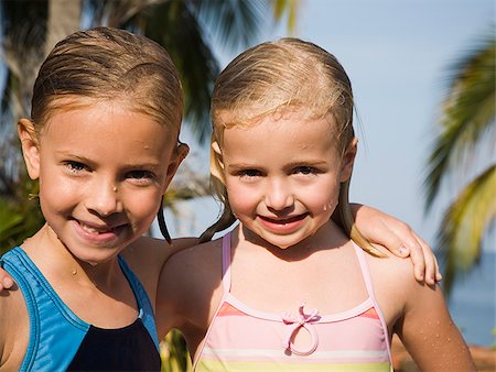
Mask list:
[[[412,284],[395,331],[422,371],[475,371],[470,350],[453,324],[441,288]]]

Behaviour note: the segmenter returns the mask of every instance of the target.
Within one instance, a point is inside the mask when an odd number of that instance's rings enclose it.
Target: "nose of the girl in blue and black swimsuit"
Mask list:
[[[122,211],[119,188],[111,182],[95,183],[86,199],[86,208],[101,217]]]

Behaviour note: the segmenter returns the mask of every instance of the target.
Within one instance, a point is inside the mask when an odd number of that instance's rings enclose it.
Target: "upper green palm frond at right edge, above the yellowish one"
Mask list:
[[[472,150],[495,123],[495,46],[494,34],[468,57],[451,69],[450,92],[444,100],[442,131],[435,139],[428,162],[425,207],[432,206],[442,179],[459,166],[463,155]]]

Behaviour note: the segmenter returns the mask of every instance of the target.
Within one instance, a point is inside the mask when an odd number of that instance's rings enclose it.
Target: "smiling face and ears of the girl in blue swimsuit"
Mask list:
[[[56,110],[37,136],[28,120],[19,128],[50,231],[99,263],[149,229],[182,157],[175,131],[126,101],[89,103]]]

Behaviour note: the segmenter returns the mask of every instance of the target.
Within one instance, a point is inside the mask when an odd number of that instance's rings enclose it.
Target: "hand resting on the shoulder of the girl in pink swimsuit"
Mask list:
[[[395,255],[410,255],[417,281],[434,285],[442,280],[434,253],[410,226],[368,206],[352,204],[351,207],[356,226],[365,238],[386,247]]]

